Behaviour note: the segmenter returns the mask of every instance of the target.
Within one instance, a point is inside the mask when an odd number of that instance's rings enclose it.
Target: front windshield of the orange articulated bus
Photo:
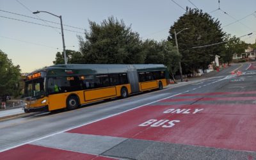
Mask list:
[[[45,96],[44,78],[33,79],[25,83],[25,97],[42,98]]]

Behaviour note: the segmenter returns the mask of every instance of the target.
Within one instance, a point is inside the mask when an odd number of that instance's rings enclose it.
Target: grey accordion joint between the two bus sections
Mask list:
[[[140,92],[139,79],[136,68],[128,68],[127,76],[131,84],[132,93]]]

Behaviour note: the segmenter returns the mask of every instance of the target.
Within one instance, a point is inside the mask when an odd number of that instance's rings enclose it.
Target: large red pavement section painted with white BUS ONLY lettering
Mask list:
[[[68,132],[256,151],[255,104],[164,105],[168,101]]]

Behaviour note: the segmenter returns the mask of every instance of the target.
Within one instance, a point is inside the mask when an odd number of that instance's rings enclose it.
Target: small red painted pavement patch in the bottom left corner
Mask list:
[[[60,150],[56,148],[48,148],[48,147],[40,147],[37,145],[22,145],[17,148],[13,148],[12,150],[7,150],[5,152],[0,153],[0,159],[3,160],[13,160],[13,159],[19,159],[19,160],[28,160],[28,159],[37,159],[37,160],[79,160],[79,159],[93,159],[93,160],[99,160],[99,159],[110,159],[107,157],[100,157],[90,154],[82,154],[78,152],[72,152],[68,150]]]

